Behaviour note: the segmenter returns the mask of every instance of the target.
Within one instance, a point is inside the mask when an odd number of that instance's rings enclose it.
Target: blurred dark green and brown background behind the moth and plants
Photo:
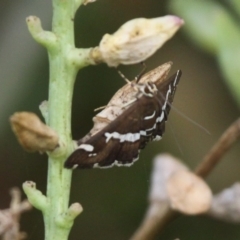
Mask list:
[[[175,1],[171,1],[174,4]],[[238,15],[229,5],[232,1],[215,1],[230,15]],[[166,0],[98,0],[82,6],[76,14],[76,46],[98,45],[105,33],[113,33],[126,21],[146,17],[184,13],[169,8]],[[187,11],[187,7],[185,9]],[[9,125],[9,116],[16,111],[32,111],[40,116],[39,104],[47,99],[48,59],[43,47],[28,33],[25,18],[40,17],[44,29],[51,26],[51,1],[23,0],[0,2],[0,208],[7,208],[9,189],[21,188],[26,180],[37,183],[45,192],[47,157],[26,153],[18,145]],[[192,12],[198,19],[198,11]],[[167,131],[160,142],[150,143],[140,160],[131,168],[74,171],[71,203],[80,202],[84,212],[76,219],[70,239],[125,240],[141,223],[148,204],[148,191],[153,157],[169,152],[194,168],[217,141],[222,132],[239,116],[239,107],[224,82],[214,55],[196,47],[184,28],[153,57],[146,61],[148,70],[173,61],[172,72],[183,71],[174,106],[178,111],[207,128],[200,128],[172,110]],[[206,26],[207,27],[207,26]],[[194,38],[193,38],[194,39]],[[240,45],[239,45],[240,47]],[[232,54],[230,61],[239,56]],[[134,78],[140,65],[122,66],[121,71]],[[73,137],[79,139],[92,127],[93,109],[105,105],[124,84],[114,68],[102,64],[83,69],[76,81],[73,99]],[[240,91],[240,90],[239,90]],[[180,149],[181,150],[180,150]],[[240,148],[237,143],[208,177],[213,192],[232,185],[240,175]],[[25,213],[22,230],[28,239],[43,239],[43,221],[37,210]],[[158,239],[235,240],[240,239],[237,225],[208,217],[181,217],[171,223]]]

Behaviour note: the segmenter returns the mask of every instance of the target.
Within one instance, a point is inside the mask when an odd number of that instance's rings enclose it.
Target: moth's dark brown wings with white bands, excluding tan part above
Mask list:
[[[114,165],[132,165],[138,159],[139,151],[149,141],[162,138],[180,77],[181,71],[177,71],[161,82],[146,80],[144,83],[136,83],[136,101],[115,119],[106,122],[106,126],[97,133],[88,135],[84,141],[81,139],[78,148],[65,162],[65,167],[108,168]]]

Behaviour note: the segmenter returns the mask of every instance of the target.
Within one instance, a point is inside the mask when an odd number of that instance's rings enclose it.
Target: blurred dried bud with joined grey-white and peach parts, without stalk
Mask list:
[[[151,203],[165,202],[184,214],[199,214],[210,208],[212,192],[178,159],[160,154],[154,160],[149,198]]]

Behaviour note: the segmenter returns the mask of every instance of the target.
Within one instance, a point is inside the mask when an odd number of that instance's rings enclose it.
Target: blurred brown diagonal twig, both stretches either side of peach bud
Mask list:
[[[220,161],[221,157],[240,137],[240,119],[234,122],[220,137],[217,143],[203,158],[202,162],[195,170],[195,174],[206,177]],[[158,203],[159,204],[159,203]],[[165,205],[164,205],[165,204]],[[162,210],[159,212],[159,209]],[[166,202],[159,208],[154,203],[150,203],[147,214],[131,240],[152,240],[159,234],[167,224],[180,216],[180,213],[171,209]],[[158,209],[158,210],[156,210]]]

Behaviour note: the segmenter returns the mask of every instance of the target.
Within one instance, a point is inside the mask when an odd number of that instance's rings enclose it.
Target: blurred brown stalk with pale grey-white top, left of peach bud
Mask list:
[[[178,170],[187,170],[181,162],[169,154],[161,154],[153,161],[151,186],[149,192],[149,207],[140,227],[130,240],[152,240],[161,229],[178,214],[170,207],[167,192],[167,179]]]

